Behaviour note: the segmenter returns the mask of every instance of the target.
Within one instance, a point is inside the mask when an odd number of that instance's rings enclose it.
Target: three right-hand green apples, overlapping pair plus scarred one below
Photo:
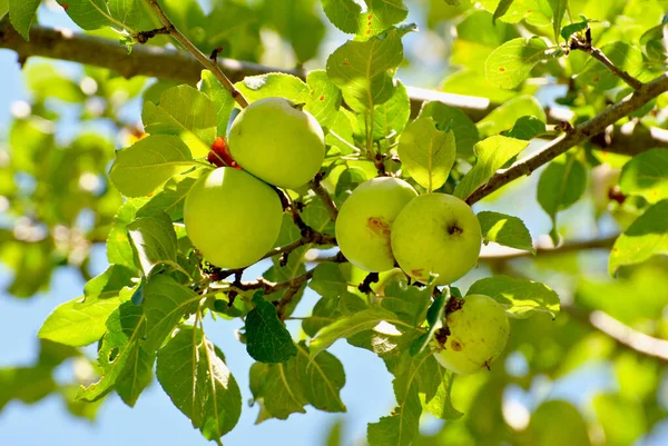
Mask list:
[[[336,219],[341,251],[371,272],[400,267],[421,283],[451,284],[478,262],[480,222],[469,205],[446,194],[419,196],[399,178],[360,185]],[[504,308],[483,295],[452,297],[443,328],[430,343],[436,360],[458,374],[489,368],[509,336]]]

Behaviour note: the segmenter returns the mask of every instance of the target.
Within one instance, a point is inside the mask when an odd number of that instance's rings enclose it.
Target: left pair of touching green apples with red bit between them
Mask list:
[[[281,231],[283,205],[269,185],[295,189],[308,182],[325,158],[325,137],[301,105],[265,98],[236,117],[228,142],[214,143],[208,159],[219,167],[193,185],[184,221],[208,261],[244,268],[262,259]]]

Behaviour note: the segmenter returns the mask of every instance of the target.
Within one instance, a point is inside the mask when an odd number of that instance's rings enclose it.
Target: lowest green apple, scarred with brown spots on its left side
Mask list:
[[[466,375],[489,369],[503,351],[510,325],[505,310],[489,296],[470,295],[448,303],[446,326],[436,330],[431,343],[443,367]]]

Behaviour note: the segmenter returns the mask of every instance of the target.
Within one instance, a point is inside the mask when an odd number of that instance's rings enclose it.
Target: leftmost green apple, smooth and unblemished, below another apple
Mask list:
[[[184,204],[190,241],[220,268],[243,268],[259,260],[274,247],[282,220],[276,191],[232,167],[203,175]]]

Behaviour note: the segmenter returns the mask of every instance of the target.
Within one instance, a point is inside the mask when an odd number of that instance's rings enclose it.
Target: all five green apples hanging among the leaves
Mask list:
[[[267,127],[272,131],[262,130]],[[269,185],[306,185],[324,157],[323,130],[301,106],[283,98],[253,102],[232,123],[229,146],[224,138],[214,143],[208,160],[218,168],[203,175],[186,197],[188,237],[218,267],[255,264],[281,231],[283,206]],[[445,194],[419,196],[393,177],[360,185],[343,204],[335,230],[341,251],[358,268],[382,272],[399,266],[415,280],[434,285],[464,276],[482,246],[469,205]],[[489,368],[508,340],[503,307],[472,295],[448,308],[443,328],[430,343],[436,360],[460,374]]]

